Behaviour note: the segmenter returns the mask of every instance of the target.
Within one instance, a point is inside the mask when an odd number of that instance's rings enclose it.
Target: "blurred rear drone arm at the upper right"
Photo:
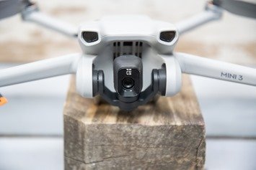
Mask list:
[[[206,5],[205,11],[203,11],[200,14],[197,14],[195,16],[192,16],[190,19],[186,19],[185,21],[178,22],[176,24],[177,30],[178,30],[179,34],[183,34],[185,32],[190,31],[191,29],[199,27],[208,22],[212,22],[214,20],[221,19],[221,15],[222,15],[221,8],[208,3]]]

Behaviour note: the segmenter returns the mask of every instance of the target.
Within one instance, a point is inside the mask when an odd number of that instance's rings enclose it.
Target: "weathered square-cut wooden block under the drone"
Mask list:
[[[64,109],[65,169],[203,169],[205,125],[183,77],[174,98],[125,113],[81,98],[74,78]]]

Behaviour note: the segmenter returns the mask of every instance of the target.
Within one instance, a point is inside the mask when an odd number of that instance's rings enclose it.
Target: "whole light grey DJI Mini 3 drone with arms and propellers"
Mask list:
[[[110,105],[131,111],[156,95],[179,93],[182,73],[256,86],[254,68],[174,52],[181,34],[221,19],[224,10],[256,18],[256,4],[212,0],[203,12],[177,24],[125,15],[105,16],[77,29],[43,14],[29,0],[0,1],[0,19],[21,14],[26,22],[78,39],[82,51],[0,70],[0,87],[75,74],[76,91],[82,97],[100,95]],[[0,105],[4,103],[0,95]]]

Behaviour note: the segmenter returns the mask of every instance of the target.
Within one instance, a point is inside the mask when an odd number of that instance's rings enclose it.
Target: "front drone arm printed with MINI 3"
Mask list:
[[[256,86],[256,69],[227,62],[175,53],[182,72]]]

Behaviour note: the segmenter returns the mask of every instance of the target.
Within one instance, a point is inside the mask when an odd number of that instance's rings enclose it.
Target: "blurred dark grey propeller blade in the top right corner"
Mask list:
[[[233,14],[256,18],[256,4],[247,1],[213,0],[213,4]]]

